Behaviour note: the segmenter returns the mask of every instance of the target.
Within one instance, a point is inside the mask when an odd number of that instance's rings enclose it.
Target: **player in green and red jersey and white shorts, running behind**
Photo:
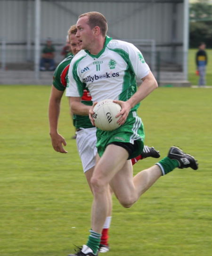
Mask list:
[[[80,50],[80,43],[75,37],[77,32],[76,25],[73,25],[69,31],[68,36],[71,44],[72,55],[65,58],[56,68],[53,76],[53,85],[51,89],[51,96],[49,100],[49,127],[50,127],[50,136],[52,141],[53,148],[60,153],[67,153],[63,148],[63,145],[66,145],[65,139],[57,132],[58,119],[60,113],[60,102],[64,94],[66,84],[67,84],[67,75],[68,68],[73,59],[73,56],[76,55]],[[83,91],[82,103],[86,106],[92,106],[91,96],[88,91]],[[89,108],[88,108],[89,110]],[[88,112],[89,114],[89,112]],[[85,173],[87,182],[90,185],[90,178],[93,173],[93,169],[96,162],[97,148],[96,148],[96,127],[93,126],[90,122],[89,116],[79,116],[73,115],[73,124],[76,127],[77,134],[77,148],[79,155],[81,157],[83,171]],[[149,148],[145,146],[142,154],[138,157],[132,159],[132,163],[135,164],[139,159],[146,157],[160,157],[158,151],[154,148]],[[111,203],[111,202],[110,202]],[[108,231],[111,223],[112,215],[112,203],[108,210],[108,216],[106,218],[104,228],[102,231],[101,243],[100,243],[100,252],[106,252],[109,250],[108,244]]]

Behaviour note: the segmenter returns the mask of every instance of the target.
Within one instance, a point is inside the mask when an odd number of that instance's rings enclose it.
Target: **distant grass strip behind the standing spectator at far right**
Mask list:
[[[188,80],[192,85],[198,84],[198,76],[196,76],[196,56],[197,49],[190,49],[188,52]],[[206,49],[208,55],[208,64],[206,70],[206,85],[212,86],[212,49]]]

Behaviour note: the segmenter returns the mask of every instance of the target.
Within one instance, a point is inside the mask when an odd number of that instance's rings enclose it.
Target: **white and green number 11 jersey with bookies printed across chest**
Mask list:
[[[90,91],[93,102],[102,99],[127,101],[137,91],[136,77],[149,74],[141,52],[131,43],[106,36],[104,48],[98,55],[81,50],[69,67],[66,96],[82,97]],[[137,104],[131,111],[139,107]]]

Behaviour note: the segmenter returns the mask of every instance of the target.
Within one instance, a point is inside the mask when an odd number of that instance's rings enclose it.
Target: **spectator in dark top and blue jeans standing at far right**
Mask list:
[[[199,50],[196,52],[196,70],[199,75],[198,86],[205,85],[205,73],[206,73],[206,65],[207,65],[207,54],[205,51],[205,43],[199,43]]]

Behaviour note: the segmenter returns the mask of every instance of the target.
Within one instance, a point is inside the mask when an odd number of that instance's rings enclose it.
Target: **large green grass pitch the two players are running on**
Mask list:
[[[0,86],[0,256],[66,256],[87,241],[92,196],[71,140],[67,99],[51,147],[49,86]],[[199,169],[161,177],[130,209],[114,200],[108,256],[211,256],[212,90],[158,88],[139,107],[145,144],[193,154]],[[144,159],[134,173],[154,165]]]

